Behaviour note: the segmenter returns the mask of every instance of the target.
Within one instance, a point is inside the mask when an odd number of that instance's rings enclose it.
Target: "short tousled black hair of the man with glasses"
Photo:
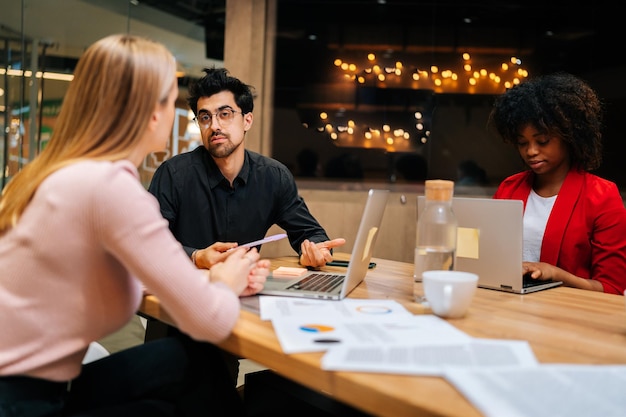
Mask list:
[[[235,96],[235,103],[243,114],[254,109],[254,87],[243,83],[238,78],[229,75],[226,68],[205,68],[205,75],[189,85],[187,103],[198,115],[198,100],[201,97],[210,97],[222,91],[230,91]]]

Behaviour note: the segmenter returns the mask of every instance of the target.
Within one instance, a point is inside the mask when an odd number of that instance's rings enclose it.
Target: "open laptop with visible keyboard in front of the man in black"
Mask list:
[[[389,190],[369,190],[345,274],[308,271],[291,279],[270,276],[259,294],[323,300],[344,299],[365,279],[388,197]]]

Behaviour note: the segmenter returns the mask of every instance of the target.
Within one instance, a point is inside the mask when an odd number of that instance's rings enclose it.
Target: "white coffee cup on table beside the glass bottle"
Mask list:
[[[465,316],[472,303],[478,275],[463,271],[425,271],[424,295],[433,313],[445,318]]]

